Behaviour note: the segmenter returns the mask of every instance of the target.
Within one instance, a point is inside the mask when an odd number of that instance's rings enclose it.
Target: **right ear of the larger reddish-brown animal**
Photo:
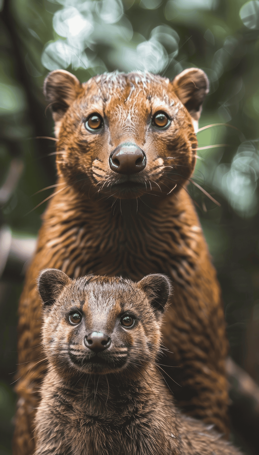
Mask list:
[[[202,104],[209,91],[208,77],[204,71],[198,68],[187,68],[178,74],[171,83],[173,91],[198,126]]]

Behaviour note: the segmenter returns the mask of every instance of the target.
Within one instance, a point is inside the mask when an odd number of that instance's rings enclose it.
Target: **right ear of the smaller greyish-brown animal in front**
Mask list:
[[[154,273],[142,278],[137,286],[147,294],[152,308],[163,313],[168,297],[172,293],[169,278],[161,273]]]

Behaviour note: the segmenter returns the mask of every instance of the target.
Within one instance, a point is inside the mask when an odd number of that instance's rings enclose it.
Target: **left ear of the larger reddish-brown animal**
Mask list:
[[[52,111],[53,120],[59,121],[81,91],[81,84],[73,74],[54,70],[44,81],[43,93]]]

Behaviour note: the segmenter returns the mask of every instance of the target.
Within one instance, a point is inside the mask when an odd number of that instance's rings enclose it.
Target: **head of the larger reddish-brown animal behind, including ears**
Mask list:
[[[195,131],[208,93],[202,70],[187,69],[172,82],[114,72],[84,84],[55,70],[44,93],[58,138],[58,173],[87,195],[165,195],[192,174]]]

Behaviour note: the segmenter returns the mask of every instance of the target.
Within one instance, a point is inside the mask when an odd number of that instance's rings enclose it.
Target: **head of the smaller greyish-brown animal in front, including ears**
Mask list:
[[[169,279],[86,276],[71,280],[57,269],[41,272],[43,344],[63,376],[131,372],[155,360]]]

